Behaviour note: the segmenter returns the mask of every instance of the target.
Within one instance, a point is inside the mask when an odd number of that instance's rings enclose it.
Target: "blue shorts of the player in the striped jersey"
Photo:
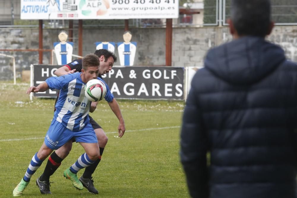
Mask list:
[[[76,142],[98,143],[94,129],[90,123],[87,123],[83,129],[73,132],[66,128],[63,124],[53,119],[50,128],[45,135],[45,145],[53,150],[57,150],[66,142],[75,138]]]

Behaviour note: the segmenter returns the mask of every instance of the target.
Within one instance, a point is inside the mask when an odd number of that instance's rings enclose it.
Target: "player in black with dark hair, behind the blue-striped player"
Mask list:
[[[108,50],[104,50],[104,49],[96,50],[94,54],[97,55],[99,58],[100,65],[99,65],[98,77],[102,78],[101,75],[104,75],[111,70],[113,63],[116,62],[116,60],[117,60],[117,57],[114,55],[114,53],[112,53]],[[71,63],[64,65],[64,66],[60,67],[59,69],[57,69],[55,71],[55,75],[61,76],[61,75],[67,75],[67,74],[74,73],[74,72],[81,72],[81,69],[82,69],[82,60],[78,59],[78,60],[74,60]],[[59,96],[57,97],[57,99],[58,98],[59,98]],[[98,104],[98,102],[91,103],[91,107],[90,107],[91,113],[94,112],[94,110],[97,107],[97,104]],[[121,114],[121,110],[119,108],[119,104],[116,101],[116,99],[113,99],[108,104],[109,104],[111,110],[113,111],[113,113],[119,119],[118,133],[119,133],[119,137],[122,137],[124,135],[124,132],[126,129],[125,129],[124,119]],[[101,156],[104,151],[105,145],[107,144],[108,137],[106,136],[102,127],[98,123],[96,123],[96,121],[94,121],[94,119],[91,118],[91,116],[89,116],[89,118],[90,118],[90,123],[91,123],[92,127],[94,128],[94,131],[95,131],[97,139],[98,139],[100,156],[99,156],[99,159],[97,159],[97,161],[94,164],[92,164],[91,166],[89,166],[85,169],[85,172],[79,178],[79,181],[83,184],[83,186],[86,189],[88,189],[88,191],[90,193],[98,194],[97,189],[94,187],[94,181],[92,180],[92,174],[94,173],[96,167],[98,166],[98,164],[101,160]],[[39,186],[41,194],[51,194],[50,187],[49,187],[50,186],[49,178],[51,175],[53,175],[53,173],[61,165],[61,161],[67,157],[67,155],[71,151],[71,148],[72,148],[72,141],[69,141],[66,144],[64,144],[61,148],[54,151],[50,155],[44,172],[36,181],[37,186]]]

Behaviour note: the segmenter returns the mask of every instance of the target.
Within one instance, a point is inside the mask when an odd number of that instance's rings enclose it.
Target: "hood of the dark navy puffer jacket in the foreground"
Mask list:
[[[205,67],[231,84],[250,85],[274,71],[285,53],[259,37],[242,37],[209,50]]]

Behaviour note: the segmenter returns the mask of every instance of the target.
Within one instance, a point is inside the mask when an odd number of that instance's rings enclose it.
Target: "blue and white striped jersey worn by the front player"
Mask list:
[[[80,74],[81,72],[76,72],[60,77],[50,77],[45,80],[50,89],[60,90],[53,119],[74,132],[83,129],[90,121],[88,113],[91,101],[85,97],[85,83],[81,80]],[[100,78],[97,79],[104,82]],[[106,95],[104,99],[111,102],[113,94],[110,92],[108,85],[106,83],[105,85]]]

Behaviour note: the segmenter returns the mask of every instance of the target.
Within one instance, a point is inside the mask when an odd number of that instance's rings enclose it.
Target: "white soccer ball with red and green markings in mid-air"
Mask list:
[[[85,86],[85,96],[92,102],[102,100],[106,94],[105,84],[98,79],[89,80]]]

